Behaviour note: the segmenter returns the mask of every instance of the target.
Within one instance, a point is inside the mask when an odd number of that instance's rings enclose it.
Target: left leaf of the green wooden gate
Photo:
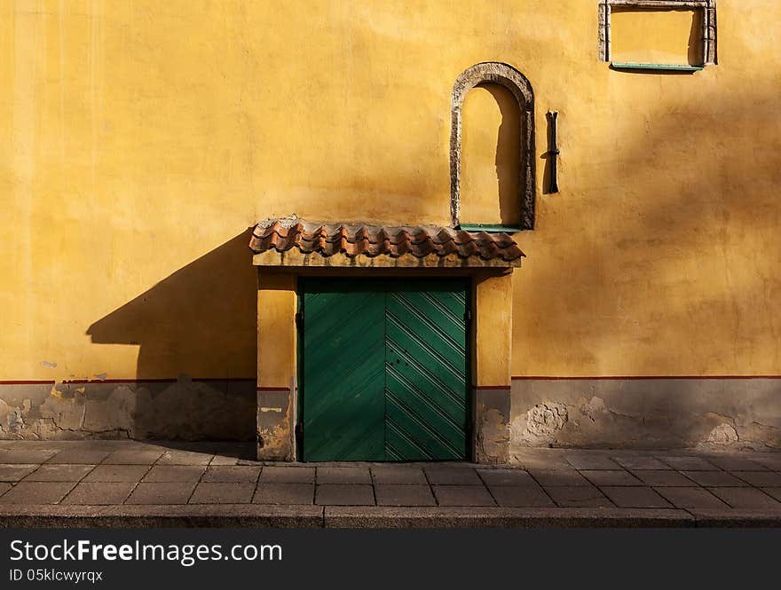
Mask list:
[[[384,459],[384,294],[304,282],[303,459]]]

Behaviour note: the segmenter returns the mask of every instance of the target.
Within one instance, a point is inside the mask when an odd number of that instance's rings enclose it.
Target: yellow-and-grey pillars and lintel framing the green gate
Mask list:
[[[421,264],[412,268],[380,265],[351,268],[336,264],[331,267],[258,264],[257,270],[258,460],[295,461],[300,457],[296,449],[297,383],[301,377],[296,326],[299,278],[463,277],[469,278],[471,284],[471,460],[484,464],[509,462],[510,425],[525,420],[525,410],[523,415],[515,415],[511,404],[513,267]]]

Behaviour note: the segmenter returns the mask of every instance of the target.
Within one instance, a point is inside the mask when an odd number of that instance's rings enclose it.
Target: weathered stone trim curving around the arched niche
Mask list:
[[[469,90],[480,83],[497,83],[516,98],[520,109],[521,161],[518,166],[518,206],[520,228],[534,229],[534,94],[532,84],[515,67],[498,61],[486,61],[464,70],[455,80],[451,98],[450,131],[450,217],[454,226],[461,215],[461,109]]]

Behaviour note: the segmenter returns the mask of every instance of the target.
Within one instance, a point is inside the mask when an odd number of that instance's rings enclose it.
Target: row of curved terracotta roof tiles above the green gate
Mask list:
[[[267,219],[258,223],[249,242],[256,254],[292,248],[304,254],[333,256],[405,256],[436,254],[512,262],[525,256],[507,233],[466,232],[429,225],[385,227],[370,224],[311,224],[301,219]]]

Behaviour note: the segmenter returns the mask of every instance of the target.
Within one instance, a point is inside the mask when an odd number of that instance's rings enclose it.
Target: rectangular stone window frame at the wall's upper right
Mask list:
[[[611,61],[611,10],[619,8],[688,8],[702,11],[704,66],[716,61],[716,0],[599,0],[599,60]]]

